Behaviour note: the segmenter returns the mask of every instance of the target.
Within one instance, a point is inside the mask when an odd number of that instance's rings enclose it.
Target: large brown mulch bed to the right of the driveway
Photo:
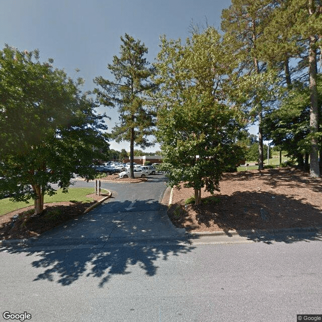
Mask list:
[[[226,173],[220,192],[200,206],[185,205],[193,189],[174,189],[168,214],[187,231],[322,226],[321,192],[321,178],[292,168]],[[209,196],[202,191],[202,198]]]

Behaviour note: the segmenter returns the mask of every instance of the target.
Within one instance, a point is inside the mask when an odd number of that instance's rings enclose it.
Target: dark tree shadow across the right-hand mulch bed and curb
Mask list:
[[[322,213],[317,206],[305,203],[305,198],[262,191],[237,191],[218,198],[218,203],[189,206],[194,215],[185,220],[187,230],[198,226],[209,230],[217,225],[227,236],[232,236],[229,231],[235,230],[240,236],[268,244],[272,241],[322,240]],[[283,211],[279,209],[281,205]],[[304,227],[308,228],[305,233],[301,229]]]

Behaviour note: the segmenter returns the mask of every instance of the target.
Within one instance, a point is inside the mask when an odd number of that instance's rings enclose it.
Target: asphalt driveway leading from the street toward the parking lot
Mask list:
[[[75,180],[74,186],[94,183]],[[135,184],[102,182],[101,188],[110,190],[112,198],[88,214],[42,234],[36,244],[100,248],[146,239],[186,240],[185,230],[173,226],[167,206],[161,203],[166,190],[164,175],[149,176],[147,182]]]

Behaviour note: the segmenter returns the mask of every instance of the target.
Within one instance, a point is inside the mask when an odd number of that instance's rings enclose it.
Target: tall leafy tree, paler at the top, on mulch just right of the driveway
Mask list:
[[[196,205],[202,188],[219,191],[224,167],[239,158],[238,111],[223,102],[222,81],[233,68],[227,52],[217,31],[207,28],[185,45],[163,37],[155,64],[159,170],[167,171],[171,187],[184,181],[193,188]]]

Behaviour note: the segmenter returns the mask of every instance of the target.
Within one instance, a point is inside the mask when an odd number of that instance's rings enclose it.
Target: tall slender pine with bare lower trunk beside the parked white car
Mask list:
[[[147,48],[139,40],[125,34],[121,37],[120,55],[114,56],[108,69],[114,81],[102,76],[94,79],[100,104],[117,107],[120,123],[112,131],[117,142],[130,141],[130,171],[133,174],[134,143],[140,147],[151,145],[147,137],[153,134],[155,112],[146,107],[145,93],[154,88],[150,81],[153,68],[144,57]]]

